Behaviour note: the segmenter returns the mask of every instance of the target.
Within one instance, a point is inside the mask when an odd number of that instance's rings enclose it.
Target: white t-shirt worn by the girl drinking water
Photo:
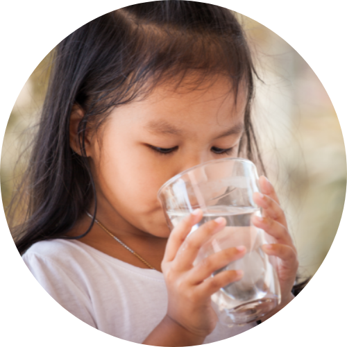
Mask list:
[[[162,273],[122,262],[76,240],[37,242],[23,260],[40,285],[85,323],[139,344],[164,318],[167,289]],[[255,323],[217,323],[204,343],[237,335]]]

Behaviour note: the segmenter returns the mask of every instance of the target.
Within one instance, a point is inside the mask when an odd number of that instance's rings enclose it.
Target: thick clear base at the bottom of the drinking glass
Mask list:
[[[244,325],[257,321],[273,310],[277,305],[277,298],[263,298],[261,300],[239,305],[231,310],[224,310],[224,312],[226,316],[228,316],[228,319],[231,319],[235,325]],[[223,321],[221,323],[223,323]]]

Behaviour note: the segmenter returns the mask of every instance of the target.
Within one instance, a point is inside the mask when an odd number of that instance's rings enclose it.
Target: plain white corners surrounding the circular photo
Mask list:
[[[3,1],[1,5],[0,139],[24,83],[40,60],[79,26],[137,1]],[[206,1],[205,1],[206,2]],[[242,13],[280,35],[312,67],[346,135],[344,1],[208,1]],[[38,285],[12,242],[0,208],[0,298],[3,346],[135,346],[99,332],[66,312]],[[284,310],[214,346],[342,346],[346,342],[346,209],[330,251],[305,290]],[[117,310],[117,307],[115,307]]]

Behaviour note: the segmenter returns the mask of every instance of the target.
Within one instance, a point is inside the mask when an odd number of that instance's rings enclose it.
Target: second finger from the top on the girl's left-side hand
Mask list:
[[[173,261],[176,271],[187,271],[192,268],[192,264],[198,255],[198,251],[212,235],[219,232],[226,226],[226,219],[219,217],[213,221],[208,221],[196,229],[189,237],[185,239],[183,244],[177,251]]]

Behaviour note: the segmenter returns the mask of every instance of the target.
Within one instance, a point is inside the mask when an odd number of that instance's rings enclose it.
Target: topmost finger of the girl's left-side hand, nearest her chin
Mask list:
[[[192,230],[192,227],[198,223],[202,217],[203,212],[198,208],[180,221],[176,228],[172,230],[169,239],[167,240],[167,246],[165,248],[164,257],[162,260],[163,263],[174,260],[178,249],[185,241],[185,238],[189,234],[190,230]]]

